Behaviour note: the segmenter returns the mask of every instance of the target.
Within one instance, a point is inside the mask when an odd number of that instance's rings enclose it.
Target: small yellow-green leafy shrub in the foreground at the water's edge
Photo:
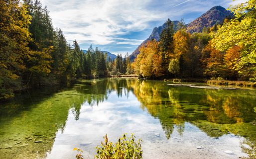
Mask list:
[[[96,159],[142,159],[141,140],[135,141],[135,136],[126,134],[113,144],[109,142],[108,136],[104,137],[104,142],[97,146]]]

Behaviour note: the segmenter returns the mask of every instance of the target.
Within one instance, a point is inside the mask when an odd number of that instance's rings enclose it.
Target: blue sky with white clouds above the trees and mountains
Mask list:
[[[41,0],[53,26],[61,28],[69,43],[81,49],[92,44],[113,54],[131,54],[168,18],[189,23],[211,7],[246,0]]]

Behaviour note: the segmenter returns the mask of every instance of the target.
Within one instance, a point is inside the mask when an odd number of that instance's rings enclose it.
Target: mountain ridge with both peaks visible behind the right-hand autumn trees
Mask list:
[[[207,12],[205,12],[202,16],[198,17],[191,23],[187,24],[187,31],[190,33],[193,32],[202,32],[204,27],[212,27],[214,24],[219,23],[221,24],[223,20],[226,17],[233,17],[233,13],[231,13],[229,10],[226,10],[222,6],[214,6]],[[179,21],[173,21],[174,24],[174,30],[177,30],[177,26],[179,24]],[[139,48],[144,45],[147,41],[155,39],[156,41],[159,41],[160,34],[162,30],[166,27],[166,23],[164,23],[162,26],[155,27],[151,33],[151,35],[143,41],[135,51],[130,55],[130,59],[133,61],[136,56],[139,54]]]

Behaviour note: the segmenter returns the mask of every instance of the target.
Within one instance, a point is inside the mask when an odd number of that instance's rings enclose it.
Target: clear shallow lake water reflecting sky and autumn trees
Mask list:
[[[1,104],[0,159],[72,159],[74,147],[93,159],[106,133],[113,142],[134,133],[143,140],[145,159],[247,157],[256,144],[256,89],[168,83],[81,80],[58,92],[20,95]]]

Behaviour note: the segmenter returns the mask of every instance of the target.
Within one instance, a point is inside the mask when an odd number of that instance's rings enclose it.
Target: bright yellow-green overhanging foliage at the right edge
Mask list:
[[[229,8],[235,19],[213,34],[212,46],[226,51],[233,46],[241,46],[242,51],[236,70],[245,79],[256,79],[256,0],[248,0]]]

